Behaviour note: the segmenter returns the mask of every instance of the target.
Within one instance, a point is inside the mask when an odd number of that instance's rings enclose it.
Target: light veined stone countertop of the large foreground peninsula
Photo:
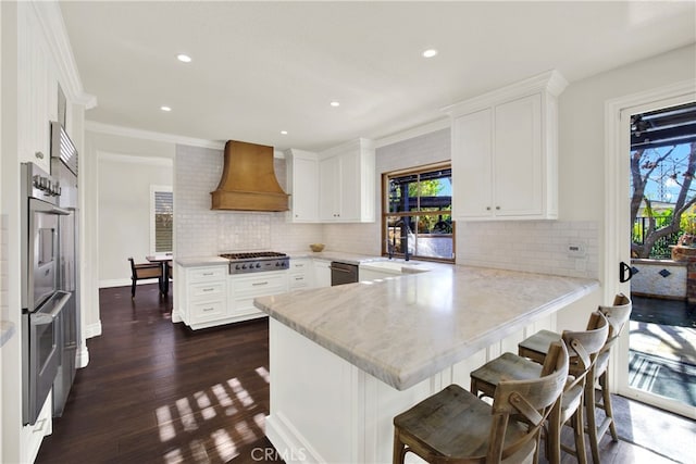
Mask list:
[[[296,290],[254,304],[406,390],[597,288],[592,279],[457,265]]]

